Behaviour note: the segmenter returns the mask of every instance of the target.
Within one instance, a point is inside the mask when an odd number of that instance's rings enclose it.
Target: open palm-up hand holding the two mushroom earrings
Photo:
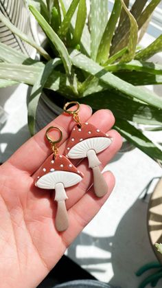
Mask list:
[[[82,122],[94,124],[113,138],[112,144],[98,154],[102,168],[113,158],[122,144],[116,131],[109,131],[115,120],[109,110],[100,110],[91,115],[86,105],[80,106]],[[59,153],[64,153],[72,127],[75,125],[69,115],[62,114],[48,126],[58,126],[63,133]],[[34,186],[34,172],[51,153],[45,142],[47,127],[25,142],[18,151],[0,166],[0,287],[36,287],[56,265],[67,247],[97,214],[115,186],[111,172],[104,173],[108,192],[102,198],[93,194],[93,188],[86,192],[92,182],[87,159],[78,169],[84,179],[68,188],[66,201],[69,214],[69,228],[58,233],[54,225],[56,203],[54,194]],[[12,141],[12,139],[11,139]],[[76,164],[78,160],[74,160]]]

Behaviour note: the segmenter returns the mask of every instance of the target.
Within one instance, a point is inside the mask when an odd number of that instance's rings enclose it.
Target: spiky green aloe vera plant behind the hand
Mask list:
[[[138,32],[160,0],[136,0],[131,8],[128,0],[115,0],[111,13],[108,0],[27,3],[51,49],[47,52],[27,38],[0,12],[0,21],[41,56],[34,60],[0,43],[0,87],[18,82],[33,86],[28,105],[31,134],[41,92],[51,89],[54,102],[61,95],[66,101],[90,104],[94,110],[111,109],[115,129],[162,164],[161,150],[135,125],[149,124],[152,130],[154,125],[155,130],[162,126],[162,98],[141,87],[162,83],[162,66],[148,60],[162,51],[162,35],[148,47],[138,46]]]

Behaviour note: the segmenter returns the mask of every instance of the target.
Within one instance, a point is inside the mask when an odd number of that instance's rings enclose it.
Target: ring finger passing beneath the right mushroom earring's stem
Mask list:
[[[101,170],[106,166],[108,162],[113,159],[119,148],[122,146],[122,137],[119,133],[115,130],[108,131],[110,137],[113,138],[113,142],[111,143],[108,148],[106,148],[102,153],[97,154],[98,159],[102,163],[100,168]],[[86,190],[91,186],[93,183],[93,172],[91,168],[88,166],[88,159],[84,159],[78,166],[78,170],[84,173],[84,178],[78,184],[77,189],[76,186],[71,188],[67,188],[67,196],[68,199],[66,200],[67,209],[71,208],[78,200],[86,193]]]

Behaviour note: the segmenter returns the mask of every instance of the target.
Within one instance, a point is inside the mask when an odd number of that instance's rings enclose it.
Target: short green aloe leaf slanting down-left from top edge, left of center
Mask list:
[[[80,0],[73,0],[71,2],[71,5],[64,17],[64,20],[60,25],[60,29],[58,30],[58,35],[60,36],[60,38],[64,38],[65,35],[67,34],[67,31],[69,30],[69,26],[71,23],[71,18],[73,17],[74,12],[76,11],[79,1]]]

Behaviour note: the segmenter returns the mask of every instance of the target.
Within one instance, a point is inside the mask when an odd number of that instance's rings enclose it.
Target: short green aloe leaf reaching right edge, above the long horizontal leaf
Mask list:
[[[148,47],[139,51],[135,59],[137,60],[147,60],[152,57],[154,54],[162,51],[162,34],[152,42]]]

